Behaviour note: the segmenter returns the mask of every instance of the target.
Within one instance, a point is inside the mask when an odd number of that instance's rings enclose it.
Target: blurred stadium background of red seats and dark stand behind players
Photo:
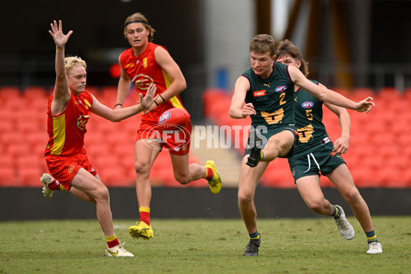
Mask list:
[[[350,111],[351,144],[344,158],[357,186],[410,188],[410,10],[411,1],[395,0],[7,1],[0,11],[0,186],[40,188],[38,178],[47,172],[47,97],[55,82],[50,23],[62,20],[64,33],[73,30],[66,55],[86,60],[87,89],[114,108],[117,60],[129,47],[123,23],[142,12],[157,31],[153,42],[169,49],[186,77],[180,96],[194,125],[249,125],[228,116],[234,83],[250,66],[249,42],[262,33],[276,41],[288,38],[310,62],[311,79],[356,101],[375,99],[369,114]],[[126,105],[134,104],[135,93]],[[325,110],[324,121],[332,140],[338,138],[337,117]],[[139,116],[121,123],[93,116],[88,123],[88,156],[110,187],[134,186],[139,122]],[[197,143],[190,161],[214,159],[224,187],[236,188],[244,149]],[[153,186],[179,186],[168,153],[160,153],[151,179]],[[333,187],[325,177],[321,183]],[[207,182],[184,188],[196,186],[206,188]],[[271,163],[260,186],[295,188],[286,160]]]

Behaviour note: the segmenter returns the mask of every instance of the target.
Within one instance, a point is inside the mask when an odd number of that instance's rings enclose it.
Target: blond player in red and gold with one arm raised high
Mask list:
[[[73,31],[63,34],[62,21],[51,23],[49,30],[55,42],[55,86],[49,98],[47,132],[49,142],[45,157],[49,173],[41,177],[43,193],[51,198],[55,190],[66,190],[84,201],[95,203],[97,219],[107,242],[105,256],[134,257],[125,250],[114,233],[110,196],[97,171],[88,161],[84,134],[90,112],[110,121],[121,121],[148,109],[153,103],[155,85],[140,95],[140,103],[112,110],[100,103],[86,88],[86,62],[77,56],[64,58],[64,45]]]

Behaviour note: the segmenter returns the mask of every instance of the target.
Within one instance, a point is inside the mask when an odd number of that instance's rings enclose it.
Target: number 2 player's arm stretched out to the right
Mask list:
[[[339,105],[340,107],[348,108],[350,110],[356,110],[358,112],[366,113],[370,112],[371,109],[375,107],[375,103],[373,102],[372,97],[367,97],[366,99],[356,103],[337,92],[325,88],[324,86],[317,86],[313,82],[309,81],[295,66],[288,66],[288,73],[290,74],[290,77],[294,84],[303,88],[304,90],[307,90],[312,95],[323,100],[324,102]]]

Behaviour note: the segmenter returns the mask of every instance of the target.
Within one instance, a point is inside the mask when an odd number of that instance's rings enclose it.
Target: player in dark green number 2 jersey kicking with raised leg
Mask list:
[[[369,112],[373,99],[358,103],[310,82],[294,66],[275,63],[275,40],[268,34],[253,37],[249,47],[251,69],[238,77],[229,108],[229,116],[251,116],[249,142],[242,158],[238,182],[238,208],[249,234],[244,256],[258,256],[261,244],[257,229],[254,194],[269,162],[289,158],[294,153],[294,86],[301,86],[322,101],[358,112]],[[255,127],[255,128],[254,128]]]

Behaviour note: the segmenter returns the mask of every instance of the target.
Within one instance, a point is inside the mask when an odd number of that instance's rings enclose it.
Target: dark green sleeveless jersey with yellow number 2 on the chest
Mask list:
[[[242,74],[250,82],[246,103],[253,103],[256,115],[251,115],[253,127],[279,127],[294,125],[294,83],[288,66],[274,63],[273,73],[262,79],[253,69]]]

